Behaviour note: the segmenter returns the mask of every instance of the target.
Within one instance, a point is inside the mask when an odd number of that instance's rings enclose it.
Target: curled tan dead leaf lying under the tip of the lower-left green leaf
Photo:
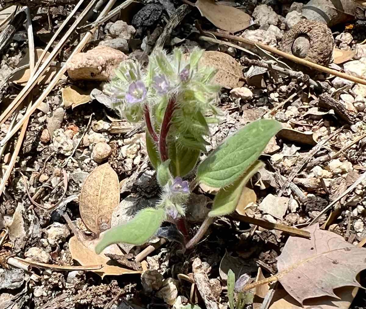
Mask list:
[[[107,256],[105,256],[105,253],[123,255],[122,251],[117,245],[112,245],[108,248],[105,248],[100,254],[95,253],[94,248],[98,241],[99,239],[80,241],[76,236],[72,236],[69,240],[69,250],[72,258],[83,266],[96,264],[102,265],[102,268],[93,270],[93,272],[100,275],[102,278],[107,275],[141,273],[140,271],[119,267],[117,262],[112,261]]]

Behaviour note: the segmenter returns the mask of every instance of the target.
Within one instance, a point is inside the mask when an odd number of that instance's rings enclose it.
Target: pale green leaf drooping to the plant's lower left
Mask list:
[[[99,254],[109,245],[119,242],[132,245],[145,244],[159,229],[164,217],[163,208],[145,208],[139,211],[131,221],[106,231],[102,240],[95,247],[95,252]]]

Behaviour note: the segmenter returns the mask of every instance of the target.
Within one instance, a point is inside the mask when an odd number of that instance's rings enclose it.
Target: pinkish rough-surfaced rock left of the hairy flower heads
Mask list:
[[[111,79],[118,65],[127,59],[120,50],[99,45],[86,53],[78,53],[66,63],[67,73],[74,80]]]

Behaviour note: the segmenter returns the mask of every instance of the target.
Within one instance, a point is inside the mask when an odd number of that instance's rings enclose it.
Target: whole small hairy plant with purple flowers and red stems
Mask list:
[[[159,50],[146,68],[125,61],[108,84],[115,111],[128,121],[145,121],[147,152],[162,192],[155,208],[106,231],[97,253],[118,242],[142,245],[164,221],[175,223],[186,235],[182,220],[190,188],[198,182],[220,188],[209,217],[233,212],[243,187],[262,166],[259,155],[281,129],[274,120],[246,125],[201,162],[191,184],[182,179],[206,151],[209,124],[219,115],[215,104],[220,86],[211,83],[216,70],[199,65],[202,53],[198,48],[188,56],[180,49],[168,55]]]

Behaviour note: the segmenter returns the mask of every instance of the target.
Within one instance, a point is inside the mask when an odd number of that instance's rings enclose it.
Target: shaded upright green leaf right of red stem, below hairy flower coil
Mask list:
[[[173,177],[186,176],[196,165],[201,150],[191,149],[169,141],[170,170]]]

